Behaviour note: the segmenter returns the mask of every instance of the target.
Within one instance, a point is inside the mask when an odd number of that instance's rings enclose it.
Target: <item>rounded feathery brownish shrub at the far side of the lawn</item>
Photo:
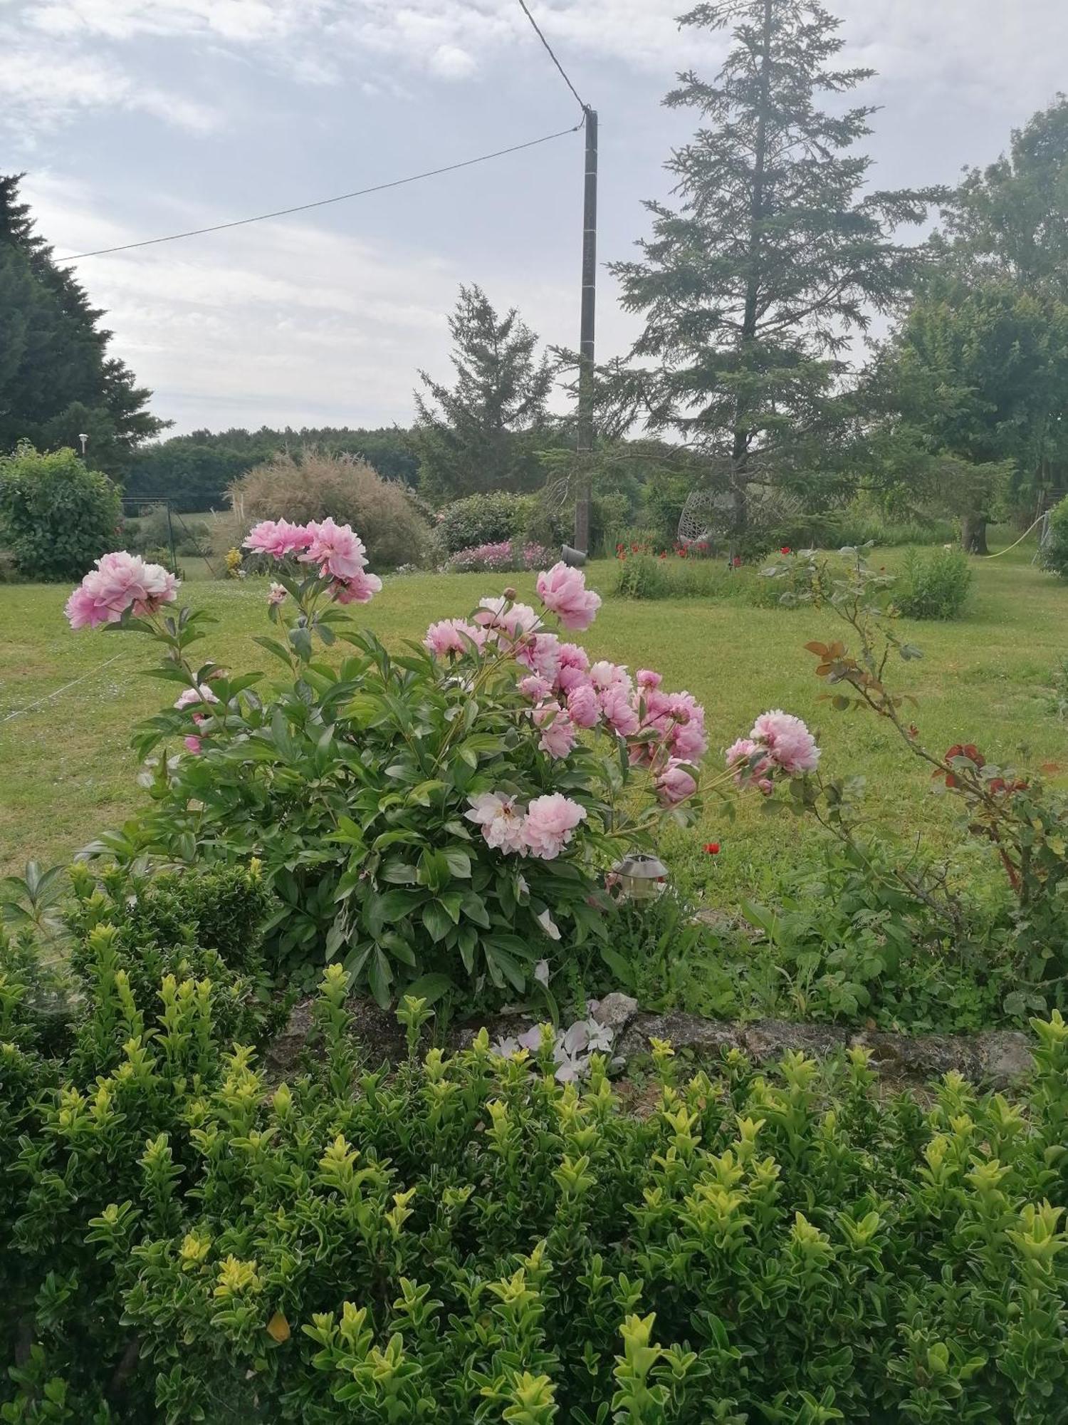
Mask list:
[[[239,544],[259,520],[305,524],[333,519],[357,524],[367,553],[380,569],[422,559],[430,530],[412,504],[404,486],[383,480],[365,460],[305,449],[293,457],[279,453],[255,466],[229,487],[241,537],[224,522],[219,537]]]

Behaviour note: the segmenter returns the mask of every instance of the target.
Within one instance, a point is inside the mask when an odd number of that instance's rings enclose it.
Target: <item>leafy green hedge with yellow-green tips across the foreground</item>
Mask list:
[[[88,979],[77,1069],[0,982],[6,1419],[1062,1419],[1059,1016],[1020,1102],[880,1096],[863,1049],[686,1077],[656,1045],[632,1116],[601,1056],[580,1092],[486,1032],[387,1079],[346,988],[273,1086],[209,980]]]

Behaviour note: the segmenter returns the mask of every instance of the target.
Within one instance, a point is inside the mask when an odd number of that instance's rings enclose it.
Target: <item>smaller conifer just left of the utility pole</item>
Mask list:
[[[513,308],[498,318],[480,286],[461,286],[449,318],[456,385],[414,393],[420,487],[437,500],[478,490],[530,490],[543,480],[531,436],[545,425],[553,376],[538,338]]]

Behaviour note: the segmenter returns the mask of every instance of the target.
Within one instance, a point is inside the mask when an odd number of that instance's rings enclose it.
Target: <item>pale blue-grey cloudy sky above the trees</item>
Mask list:
[[[951,182],[1065,86],[1064,0],[830,0],[879,70],[880,187]],[[645,228],[688,121],[674,74],[723,37],[681,0],[537,0],[601,117],[601,259]],[[517,0],[0,0],[0,165],[57,255],[434,168],[574,123]],[[407,423],[419,366],[477,281],[577,341],[581,135],[392,192],[91,258],[78,275],[174,429]],[[598,356],[632,319],[600,279]]]

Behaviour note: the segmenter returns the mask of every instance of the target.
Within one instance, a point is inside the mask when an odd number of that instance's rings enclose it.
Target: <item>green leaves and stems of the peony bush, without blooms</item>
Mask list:
[[[614,732],[604,734],[608,755],[604,744],[577,742],[551,757],[517,687],[528,668],[507,640],[483,648],[468,640],[446,667],[422,644],[390,654],[349,627],[329,600],[329,577],[276,569],[288,600],[269,614],[285,643],[256,641],[286,677],[269,695],[255,691],[259,673],[188,661],[202,616],[124,616],[120,630],[164,647],[157,677],[209,697],[142,724],[135,745],[155,754],[145,778],[154,809],[87,852],[125,865],[161,855],[189,868],[256,858],[278,896],[269,963],[295,983],[340,959],[380,1005],[413,986],[434,999],[541,998],[533,969],[557,958],[554,942],[571,950],[607,939],[601,871],[624,849],[649,846],[662,817],[652,779],[642,771],[642,795],[628,797],[638,772]],[[313,640],[355,653],[328,663]],[[661,735],[635,730],[649,765]],[[158,751],[184,738],[195,738],[194,755]],[[483,794],[521,808],[570,798],[574,839],[545,858],[508,859],[471,825]]]

